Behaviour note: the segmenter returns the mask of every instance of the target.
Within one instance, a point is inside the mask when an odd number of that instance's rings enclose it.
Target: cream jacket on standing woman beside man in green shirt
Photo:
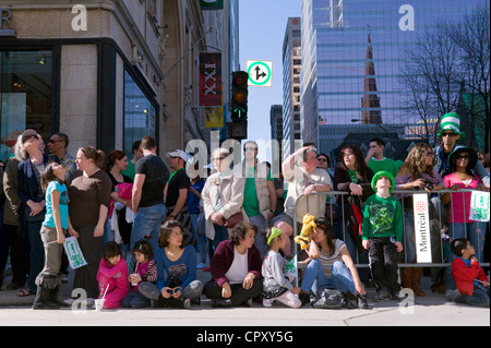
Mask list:
[[[221,200],[223,207],[218,211],[224,218],[229,218],[236,213],[242,212],[244,220],[248,220],[242,208],[243,202],[243,187],[246,185],[246,178],[236,177],[231,173],[221,177],[216,172],[206,179],[206,183],[201,192],[203,199],[204,216],[206,219],[206,237],[215,239],[215,227],[211,220],[211,215],[216,211],[216,202],[218,196]]]

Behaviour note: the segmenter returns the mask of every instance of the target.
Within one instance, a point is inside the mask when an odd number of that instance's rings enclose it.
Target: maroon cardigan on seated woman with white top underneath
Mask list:
[[[225,274],[233,262],[236,245],[230,240],[225,240],[218,244],[212,259],[212,276],[213,280],[220,287],[228,281]],[[261,279],[262,260],[261,254],[254,245],[248,252],[248,271],[252,273],[255,279]]]

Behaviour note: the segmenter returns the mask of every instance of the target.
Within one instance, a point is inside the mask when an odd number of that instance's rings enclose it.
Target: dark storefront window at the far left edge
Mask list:
[[[0,51],[0,159],[12,154],[16,137],[34,129],[51,133],[51,50]]]

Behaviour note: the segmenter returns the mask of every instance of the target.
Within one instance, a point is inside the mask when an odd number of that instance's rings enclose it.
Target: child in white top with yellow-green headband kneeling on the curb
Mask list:
[[[279,249],[285,248],[288,236],[276,227],[266,229],[263,236],[270,249],[261,271],[264,277],[263,305],[272,307],[273,301],[276,300],[291,308],[300,308],[302,305],[298,298],[300,288],[294,287],[286,278],[286,260],[279,254]]]

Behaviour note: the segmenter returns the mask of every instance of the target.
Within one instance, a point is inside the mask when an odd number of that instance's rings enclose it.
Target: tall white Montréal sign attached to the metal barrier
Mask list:
[[[431,262],[430,212],[428,194],[412,195],[415,209],[416,256],[418,263]]]

